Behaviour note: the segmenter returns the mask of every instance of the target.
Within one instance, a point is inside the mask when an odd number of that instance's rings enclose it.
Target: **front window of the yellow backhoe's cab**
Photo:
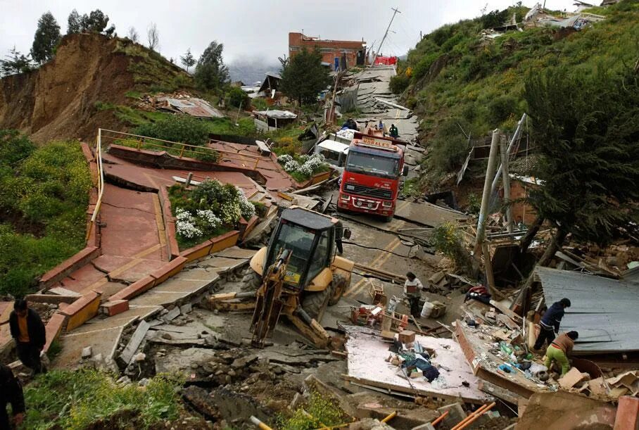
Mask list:
[[[299,284],[306,265],[310,262],[313,239],[315,239],[315,232],[310,229],[294,224],[282,224],[274,244],[272,260],[268,262],[268,265],[272,265],[281,248],[288,249],[292,255],[289,265],[286,266],[284,281],[289,284]]]

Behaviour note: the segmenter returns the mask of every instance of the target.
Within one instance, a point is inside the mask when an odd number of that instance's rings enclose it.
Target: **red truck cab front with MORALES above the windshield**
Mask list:
[[[372,213],[390,221],[400,176],[407,175],[404,151],[391,137],[355,132],[339,186],[338,210]]]

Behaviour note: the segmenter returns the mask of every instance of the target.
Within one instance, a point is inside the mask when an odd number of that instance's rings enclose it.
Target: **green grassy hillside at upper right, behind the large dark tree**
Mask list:
[[[638,0],[586,11],[606,19],[578,32],[520,24],[522,31],[495,39],[482,37],[482,30],[502,22],[501,18],[515,13],[520,23],[527,11],[512,7],[445,25],[426,35],[400,63],[391,88],[422,120],[429,179],[438,179],[462,163],[467,139],[460,126],[473,137],[495,127],[514,129],[526,111],[522,94],[530,75],[552,68],[584,76],[597,70],[616,72],[633,67],[639,58]]]

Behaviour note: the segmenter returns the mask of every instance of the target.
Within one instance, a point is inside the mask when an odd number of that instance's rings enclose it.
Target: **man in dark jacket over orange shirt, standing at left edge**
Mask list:
[[[38,312],[28,308],[27,301],[19,298],[13,303],[9,327],[23,365],[33,369],[34,374],[45,372],[40,353],[46,343],[46,331]]]

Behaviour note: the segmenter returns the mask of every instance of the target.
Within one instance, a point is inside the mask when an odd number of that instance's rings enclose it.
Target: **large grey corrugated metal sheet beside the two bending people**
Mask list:
[[[639,350],[639,284],[590,274],[537,267],[548,305],[571,301],[561,331],[575,330],[575,353]]]

